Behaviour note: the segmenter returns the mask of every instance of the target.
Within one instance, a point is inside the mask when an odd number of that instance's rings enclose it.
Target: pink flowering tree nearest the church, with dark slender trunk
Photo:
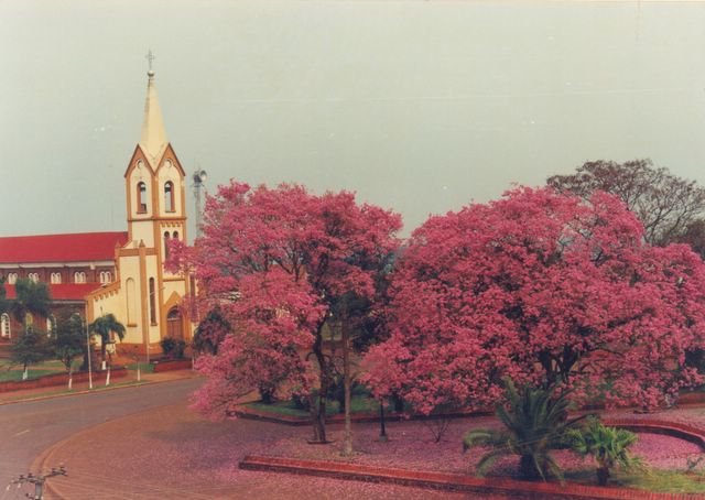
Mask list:
[[[206,203],[203,237],[171,252],[172,269],[196,276],[198,309],[217,309],[231,326],[198,361],[208,382],[196,406],[220,417],[254,389],[297,393],[311,398],[314,441],[326,442],[333,360],[324,334],[349,316],[345,304],[373,300],[400,227],[400,216],[351,193],[220,186]]]

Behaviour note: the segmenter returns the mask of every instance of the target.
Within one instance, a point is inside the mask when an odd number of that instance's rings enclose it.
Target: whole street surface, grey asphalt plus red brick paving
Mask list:
[[[102,393],[0,405],[0,500],[19,500],[28,486],[6,491],[12,476],[47,448],[45,465],[64,463],[68,477],[51,480],[70,500],[462,500],[469,494],[239,470],[250,453],[267,453],[307,427],[248,420],[209,422],[186,409],[198,379]],[[338,434],[341,432],[338,425]],[[63,442],[58,446],[55,443]],[[307,446],[307,445],[304,445]],[[45,498],[55,499],[51,493]],[[484,497],[485,500],[489,497]],[[503,499],[503,497],[492,497]]]

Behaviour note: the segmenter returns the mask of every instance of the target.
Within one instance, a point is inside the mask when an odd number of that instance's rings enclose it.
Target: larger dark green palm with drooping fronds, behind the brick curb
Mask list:
[[[507,381],[508,407],[499,405],[497,416],[501,430],[470,431],[463,437],[463,450],[475,446],[490,446],[477,468],[484,474],[498,458],[519,455],[519,471],[523,479],[546,479],[547,472],[562,478],[561,468],[553,460],[551,450],[565,446],[565,436],[575,423],[568,420],[567,393],[553,398],[545,389],[524,389],[521,393]]]

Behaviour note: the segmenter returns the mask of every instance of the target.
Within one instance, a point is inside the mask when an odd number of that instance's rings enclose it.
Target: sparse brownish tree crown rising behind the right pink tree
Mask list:
[[[648,159],[587,162],[575,174],[549,177],[547,184],[586,199],[596,191],[618,196],[643,224],[646,240],[658,246],[681,240],[705,215],[704,187]]]

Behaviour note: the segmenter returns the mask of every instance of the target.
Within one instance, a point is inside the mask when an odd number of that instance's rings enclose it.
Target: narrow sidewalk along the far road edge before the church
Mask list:
[[[85,394],[88,392],[118,390],[123,388],[132,388],[148,383],[170,382],[172,380],[189,379],[198,377],[193,370],[174,370],[158,373],[141,372],[140,381],[137,380],[137,370],[128,370],[127,377],[115,379],[106,385],[107,371],[96,371],[93,373],[93,389],[88,382],[74,382],[73,389],[69,391],[67,384],[54,385],[36,389],[23,389],[12,392],[0,393],[0,405],[19,403],[22,401],[44,400],[48,398],[64,398],[76,394]]]

